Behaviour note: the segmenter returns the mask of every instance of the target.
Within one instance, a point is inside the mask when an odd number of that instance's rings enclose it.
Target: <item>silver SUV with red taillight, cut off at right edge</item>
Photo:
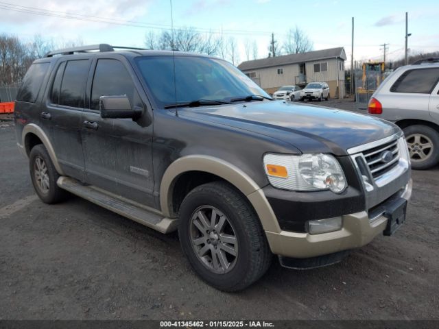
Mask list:
[[[404,131],[414,169],[439,163],[439,59],[420,60],[389,75],[372,95],[368,112]]]

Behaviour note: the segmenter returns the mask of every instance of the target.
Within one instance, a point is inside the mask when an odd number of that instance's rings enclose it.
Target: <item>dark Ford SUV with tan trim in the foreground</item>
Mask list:
[[[396,125],[272,101],[193,53],[53,51],[30,66],[14,113],[43,202],[69,191],[178,230],[195,273],[224,291],[261,278],[273,254],[290,268],[339,262],[401,227],[412,192]]]

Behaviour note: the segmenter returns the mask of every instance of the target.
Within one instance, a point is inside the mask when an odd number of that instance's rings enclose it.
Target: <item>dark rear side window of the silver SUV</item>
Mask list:
[[[430,94],[439,81],[439,68],[405,71],[390,91],[393,93]]]

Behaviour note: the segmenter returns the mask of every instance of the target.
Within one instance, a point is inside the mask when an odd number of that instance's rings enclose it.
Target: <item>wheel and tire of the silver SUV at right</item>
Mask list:
[[[403,129],[409,147],[412,168],[424,170],[439,162],[439,132],[427,125],[410,125]]]

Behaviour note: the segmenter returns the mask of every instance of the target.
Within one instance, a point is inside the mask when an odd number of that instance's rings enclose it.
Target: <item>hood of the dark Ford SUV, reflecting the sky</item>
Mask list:
[[[285,101],[182,108],[178,114],[264,134],[303,153],[346,155],[351,147],[399,132],[393,123],[375,117]]]

